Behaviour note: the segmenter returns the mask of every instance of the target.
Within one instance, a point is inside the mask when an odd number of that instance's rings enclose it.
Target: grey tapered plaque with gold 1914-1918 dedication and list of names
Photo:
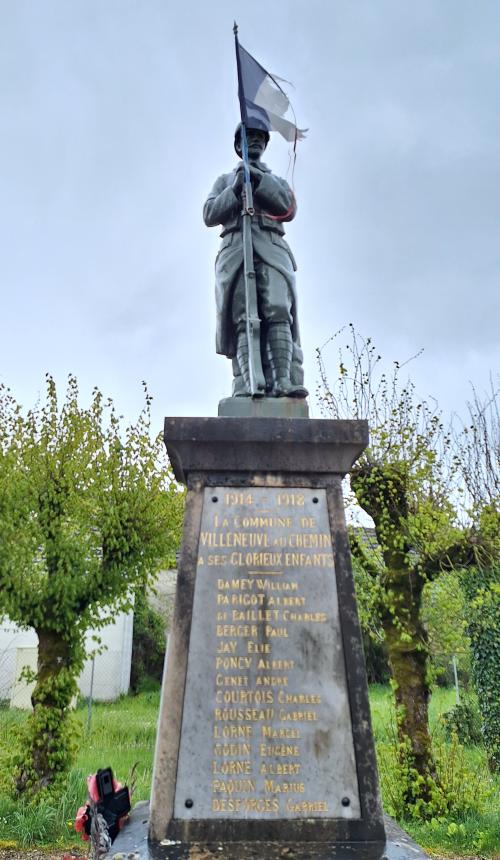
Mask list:
[[[174,815],[360,817],[324,490],[204,491]]]

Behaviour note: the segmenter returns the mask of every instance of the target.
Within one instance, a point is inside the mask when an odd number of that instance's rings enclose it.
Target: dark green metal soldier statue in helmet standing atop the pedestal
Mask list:
[[[257,123],[255,123],[257,124]],[[241,124],[234,148],[242,157]],[[242,192],[244,166],[217,179],[203,209],[207,227],[222,226],[222,244],[215,261],[216,349],[233,360],[233,396],[307,397],[303,386],[302,350],[297,321],[296,264],[286,243],[283,223],[295,216],[293,191],[261,161],[269,132],[247,127],[250,182],[253,192],[251,245],[254,284],[260,319],[260,360],[265,382],[252,390],[251,355],[246,314],[246,274],[243,265]]]

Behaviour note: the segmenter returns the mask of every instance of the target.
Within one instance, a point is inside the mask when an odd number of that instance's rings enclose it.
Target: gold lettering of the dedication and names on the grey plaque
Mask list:
[[[263,503],[262,494],[246,490],[219,490],[218,495],[233,511],[226,512],[227,517],[211,514],[213,525],[200,534],[205,563],[226,568],[204,574],[212,576],[217,595],[212,631],[218,641],[215,661],[211,660],[212,811],[235,818],[277,817],[280,812],[282,817],[286,805],[296,815],[313,817],[315,812],[325,813],[328,804],[301,799],[302,736],[307,734],[301,723],[318,720],[316,708],[322,697],[289,692],[290,679],[292,689],[303,689],[289,675],[296,661],[271,655],[284,650],[280,640],[289,639],[290,631],[297,629],[289,625],[328,623],[327,611],[316,610],[314,604],[310,610],[305,583],[301,577],[296,581],[298,570],[290,568],[310,570],[311,575],[315,568],[333,568],[332,538],[318,530],[320,521],[305,515],[305,493],[280,491],[271,505],[270,500]],[[254,505],[255,500],[267,508],[264,513],[238,508]],[[274,505],[288,511],[273,513]],[[261,793],[264,796],[257,796]]]

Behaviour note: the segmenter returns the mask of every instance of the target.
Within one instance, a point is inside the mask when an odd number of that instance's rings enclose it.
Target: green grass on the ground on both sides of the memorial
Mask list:
[[[134,801],[149,797],[159,709],[159,692],[124,697],[113,704],[96,704],[92,710],[92,723],[87,731],[87,708],[80,706],[76,718],[80,724],[80,751],[75,767],[69,774],[67,790],[54,805],[47,801],[37,807],[13,803],[0,792],[0,848],[9,842],[21,847],[50,845],[68,848],[82,846],[72,830],[78,806],[86,796],[85,776],[99,767],[113,768],[117,779],[128,782],[131,769],[136,765]],[[390,806],[387,780],[391,765],[384,757],[394,737],[392,695],[388,687],[374,685],[370,689],[373,730],[382,775],[384,804]],[[440,715],[455,704],[454,691],[436,689],[430,703],[430,727],[436,744],[445,746]],[[0,757],[2,750],[10,749],[13,729],[26,719],[20,711],[2,710],[0,719]],[[492,780],[486,768],[484,750],[469,747],[463,752],[463,766],[468,774],[475,774],[481,791],[490,791],[485,805],[487,812],[470,812],[462,817],[436,818],[427,823],[401,822],[413,838],[433,853],[499,857],[500,846],[500,780]]]

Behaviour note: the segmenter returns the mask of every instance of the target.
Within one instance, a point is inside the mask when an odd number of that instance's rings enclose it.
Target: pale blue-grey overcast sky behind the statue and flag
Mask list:
[[[236,162],[234,18],[309,128],[306,384],[353,322],[460,409],[500,367],[497,0],[0,0],[0,381],[28,406],[73,372],[133,418],[145,379],[158,428],[230,394],[201,210]],[[265,161],[287,175],[286,142]]]

